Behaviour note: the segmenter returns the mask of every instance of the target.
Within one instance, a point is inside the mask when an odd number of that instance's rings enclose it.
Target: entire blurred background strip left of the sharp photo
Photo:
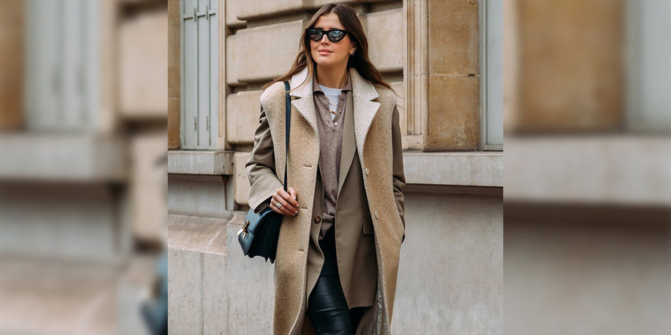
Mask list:
[[[165,331],[167,31],[166,1],[0,2],[0,334]]]

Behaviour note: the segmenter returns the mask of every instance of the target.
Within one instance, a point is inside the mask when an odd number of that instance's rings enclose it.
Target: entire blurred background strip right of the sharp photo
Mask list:
[[[671,334],[671,1],[504,2],[506,333]]]

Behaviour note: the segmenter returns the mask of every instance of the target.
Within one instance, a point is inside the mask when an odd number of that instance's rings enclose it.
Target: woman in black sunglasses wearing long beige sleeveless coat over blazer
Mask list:
[[[288,153],[283,81],[291,83]],[[261,95],[246,168],[249,206],[284,215],[275,334],[390,332],[405,237],[395,102],[368,60],[355,11],[345,4],[317,11],[293,67]]]

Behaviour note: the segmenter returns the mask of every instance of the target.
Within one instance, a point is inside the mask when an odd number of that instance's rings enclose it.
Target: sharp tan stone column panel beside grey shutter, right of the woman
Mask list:
[[[480,141],[478,1],[428,1],[425,151],[476,150]]]

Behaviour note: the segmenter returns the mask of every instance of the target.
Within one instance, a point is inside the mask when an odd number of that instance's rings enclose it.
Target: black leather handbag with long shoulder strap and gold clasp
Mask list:
[[[286,140],[285,153],[288,155],[289,149],[289,124],[291,122],[291,98],[289,97],[289,82],[284,82],[286,88]],[[284,161],[284,190],[286,186],[286,160]],[[242,252],[245,256],[253,258],[261,256],[275,262],[277,254],[277,239],[280,234],[280,225],[282,223],[282,216],[278,212],[273,212],[270,206],[264,208],[260,213],[254,212],[250,209],[245,217],[245,224],[238,230],[238,242],[242,247]]]

